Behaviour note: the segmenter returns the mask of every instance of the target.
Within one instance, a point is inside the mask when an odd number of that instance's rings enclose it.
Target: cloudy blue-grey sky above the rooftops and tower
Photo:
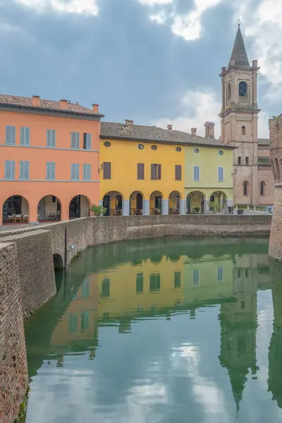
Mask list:
[[[104,120],[220,135],[219,73],[241,30],[259,137],[282,112],[281,0],[0,0],[0,93],[68,99]]]

